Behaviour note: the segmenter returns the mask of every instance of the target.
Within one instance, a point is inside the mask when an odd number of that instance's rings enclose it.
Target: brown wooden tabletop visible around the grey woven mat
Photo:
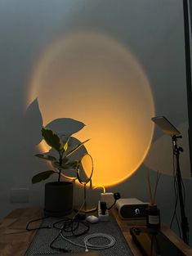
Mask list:
[[[123,236],[127,240],[128,245],[132,249],[134,256],[142,256],[139,249],[132,241],[129,233],[130,227],[143,226],[143,221],[123,221],[118,217],[118,211],[113,209],[112,216],[118,222]],[[1,256],[24,256],[28,249],[35,231],[26,231],[27,223],[33,219],[42,217],[42,209],[15,209],[6,218],[0,222],[0,255]],[[35,225],[40,224],[36,222]],[[31,226],[30,226],[31,227]],[[174,232],[163,225],[163,234],[165,234],[181,251],[187,255],[192,256],[192,249],[178,237]],[[169,255],[167,255],[169,256]],[[172,255],[170,255],[172,256]]]

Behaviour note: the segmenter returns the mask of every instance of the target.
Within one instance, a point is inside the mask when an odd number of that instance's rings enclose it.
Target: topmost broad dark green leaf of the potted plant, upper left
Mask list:
[[[56,151],[60,151],[62,142],[56,132],[53,132],[49,128],[42,127],[42,137],[49,146],[53,147]]]

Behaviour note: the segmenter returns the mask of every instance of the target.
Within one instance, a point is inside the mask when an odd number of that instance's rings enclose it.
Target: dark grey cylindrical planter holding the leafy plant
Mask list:
[[[68,215],[73,210],[73,196],[73,182],[46,183],[44,214],[56,217]]]

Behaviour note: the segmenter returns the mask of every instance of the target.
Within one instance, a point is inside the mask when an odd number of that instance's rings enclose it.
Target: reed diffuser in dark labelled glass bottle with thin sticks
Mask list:
[[[155,185],[154,185],[154,192],[151,189],[151,182],[150,182],[150,173],[147,173],[147,180],[148,180],[148,190],[150,194],[150,204],[146,209],[146,226],[154,229],[159,229],[161,227],[160,222],[160,211],[156,204],[156,193],[159,183],[160,173],[158,171]]]

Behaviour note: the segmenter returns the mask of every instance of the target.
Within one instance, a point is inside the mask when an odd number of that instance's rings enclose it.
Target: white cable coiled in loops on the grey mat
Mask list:
[[[91,235],[85,236],[83,239],[84,245],[77,244],[74,241],[67,239],[65,236],[63,236],[62,233],[60,234],[60,236],[62,236],[62,238],[64,240],[67,240],[69,243],[71,243],[73,245],[77,245],[79,247],[85,248],[86,251],[88,251],[88,249],[107,249],[107,248],[114,246],[114,244],[116,242],[116,240],[114,239],[114,236],[110,236],[105,233],[93,233]],[[88,240],[90,240],[91,238],[95,238],[95,237],[106,238],[109,240],[109,244],[107,244],[107,245],[92,245],[90,242],[88,242]]]

